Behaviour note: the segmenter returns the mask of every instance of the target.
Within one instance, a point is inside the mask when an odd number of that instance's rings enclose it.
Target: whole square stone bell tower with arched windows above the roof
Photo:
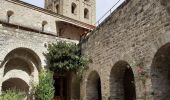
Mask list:
[[[94,25],[96,0],[45,0],[45,9]]]

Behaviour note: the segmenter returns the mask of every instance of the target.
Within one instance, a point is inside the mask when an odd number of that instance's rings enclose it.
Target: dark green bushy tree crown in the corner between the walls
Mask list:
[[[48,53],[45,56],[49,69],[58,73],[82,71],[91,61],[88,57],[81,55],[79,45],[65,41],[49,44]]]

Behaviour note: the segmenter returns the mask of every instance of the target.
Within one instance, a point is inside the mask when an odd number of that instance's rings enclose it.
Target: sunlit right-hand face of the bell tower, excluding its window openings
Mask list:
[[[71,13],[71,4],[77,5],[76,13]],[[63,15],[69,16],[73,19],[94,25],[96,22],[96,0],[64,0]],[[84,9],[89,10],[89,19],[84,18]]]

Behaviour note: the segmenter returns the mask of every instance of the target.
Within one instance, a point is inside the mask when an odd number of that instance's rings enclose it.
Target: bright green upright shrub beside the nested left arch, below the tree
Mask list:
[[[53,100],[54,91],[53,73],[42,70],[39,74],[39,84],[35,87],[36,100]]]

